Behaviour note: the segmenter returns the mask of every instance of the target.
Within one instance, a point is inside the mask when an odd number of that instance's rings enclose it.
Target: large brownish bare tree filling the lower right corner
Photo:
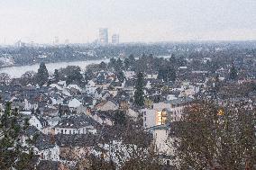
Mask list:
[[[198,102],[186,109],[177,129],[181,169],[252,169],[255,165],[256,112],[247,103],[220,107]]]

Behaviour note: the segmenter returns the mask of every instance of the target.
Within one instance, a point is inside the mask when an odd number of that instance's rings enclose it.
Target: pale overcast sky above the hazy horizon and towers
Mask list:
[[[256,0],[0,0],[0,43],[256,40]]]

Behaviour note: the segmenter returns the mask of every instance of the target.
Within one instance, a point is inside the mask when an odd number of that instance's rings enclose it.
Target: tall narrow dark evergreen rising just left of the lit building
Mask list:
[[[143,92],[143,86],[144,86],[144,78],[142,72],[139,72],[137,75],[137,83],[136,83],[136,90],[134,93],[134,103],[138,106],[144,105],[144,92]]]

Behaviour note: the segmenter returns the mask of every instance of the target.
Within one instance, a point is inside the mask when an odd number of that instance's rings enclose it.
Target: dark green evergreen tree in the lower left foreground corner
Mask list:
[[[18,110],[13,112],[11,108],[11,103],[7,102],[5,112],[0,117],[0,169],[33,169],[32,149],[30,145],[23,148],[19,139],[28,123],[24,122],[22,127],[18,122]]]

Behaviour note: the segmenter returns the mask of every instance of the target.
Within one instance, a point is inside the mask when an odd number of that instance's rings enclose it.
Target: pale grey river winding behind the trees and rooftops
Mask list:
[[[97,60],[86,60],[86,61],[71,61],[71,62],[57,62],[57,63],[47,63],[46,67],[49,73],[53,73],[55,69],[68,66],[78,66],[84,70],[90,64],[99,64],[102,61],[109,62],[108,58],[97,59]],[[17,66],[17,67],[5,67],[0,69],[0,73],[7,73],[12,78],[21,77],[27,71],[37,72],[40,64],[30,65],[30,66]]]

